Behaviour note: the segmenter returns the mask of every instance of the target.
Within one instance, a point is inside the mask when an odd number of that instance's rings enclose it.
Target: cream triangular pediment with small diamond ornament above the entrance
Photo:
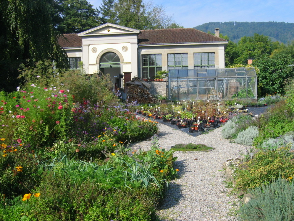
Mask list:
[[[123,27],[117,24],[106,23],[98,27],[86,30],[78,34],[78,36],[89,35],[112,35],[112,34],[138,34],[140,31],[128,27]]]

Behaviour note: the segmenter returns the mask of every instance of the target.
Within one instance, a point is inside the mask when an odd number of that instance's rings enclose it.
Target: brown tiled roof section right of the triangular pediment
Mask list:
[[[138,35],[139,44],[227,41],[194,28],[142,30],[141,32],[142,33]]]

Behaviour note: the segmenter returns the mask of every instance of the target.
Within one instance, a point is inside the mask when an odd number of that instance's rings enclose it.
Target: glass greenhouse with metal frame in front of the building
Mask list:
[[[169,100],[256,99],[253,67],[173,69],[168,73]]]

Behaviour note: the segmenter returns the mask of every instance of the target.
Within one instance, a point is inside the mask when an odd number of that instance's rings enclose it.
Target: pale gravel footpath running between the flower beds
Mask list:
[[[230,216],[235,210],[235,196],[228,196],[222,169],[223,163],[245,152],[244,145],[230,143],[221,136],[221,128],[193,137],[169,126],[158,124],[159,145],[170,149],[175,144],[206,144],[209,152],[174,153],[178,159],[179,179],[168,185],[168,192],[157,214],[162,221],[237,220]],[[148,150],[151,140],[132,144],[135,150]]]

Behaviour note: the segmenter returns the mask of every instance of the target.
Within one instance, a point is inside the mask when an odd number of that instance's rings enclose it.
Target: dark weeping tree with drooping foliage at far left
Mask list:
[[[12,91],[21,63],[55,60],[65,67],[66,55],[56,39],[49,1],[0,0],[0,90]]]

